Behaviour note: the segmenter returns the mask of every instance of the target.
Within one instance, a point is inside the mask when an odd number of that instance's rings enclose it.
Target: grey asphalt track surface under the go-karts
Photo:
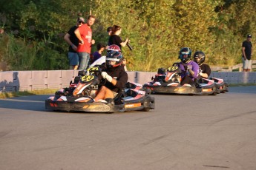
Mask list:
[[[0,169],[256,169],[256,86],[229,90],[114,114],[45,111],[47,95],[0,100]]]

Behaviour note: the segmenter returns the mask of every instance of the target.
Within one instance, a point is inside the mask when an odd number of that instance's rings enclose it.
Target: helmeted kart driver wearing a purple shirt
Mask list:
[[[180,85],[190,84],[194,85],[194,81],[197,79],[199,75],[199,66],[196,62],[191,61],[191,49],[188,47],[184,47],[179,52],[179,58],[181,60],[178,67],[180,67],[181,73],[181,82]]]

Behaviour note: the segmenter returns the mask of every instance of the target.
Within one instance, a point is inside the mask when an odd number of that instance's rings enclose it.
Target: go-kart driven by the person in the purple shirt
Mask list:
[[[214,80],[202,78],[203,81],[196,81],[194,85],[184,84],[180,85],[179,67],[168,67],[158,69],[157,75],[152,77],[152,81],[145,83],[143,87],[150,89],[151,93],[169,93],[169,94],[183,94],[183,95],[217,95],[220,89]]]

